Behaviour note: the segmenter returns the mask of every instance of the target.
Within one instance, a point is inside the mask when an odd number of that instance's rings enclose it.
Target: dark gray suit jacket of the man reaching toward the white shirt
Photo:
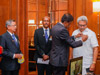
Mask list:
[[[57,23],[52,28],[52,49],[50,52],[50,63],[53,66],[66,67],[68,65],[69,47],[82,46],[82,41],[75,41],[70,37],[67,29]]]

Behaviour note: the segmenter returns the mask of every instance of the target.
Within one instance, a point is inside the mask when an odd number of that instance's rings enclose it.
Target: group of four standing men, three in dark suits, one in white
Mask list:
[[[73,21],[71,14],[64,14],[61,22],[50,29],[50,17],[45,16],[42,20],[43,27],[36,29],[34,34],[34,44],[38,75],[65,75],[68,66],[69,47],[73,48],[72,58],[83,56],[83,71],[85,75],[88,71],[95,69],[98,55],[98,41],[96,34],[87,28],[88,19],[80,16],[77,19],[78,29],[72,36],[69,35],[68,28]],[[18,75],[20,64],[18,59],[22,58],[15,20],[6,21],[7,32],[1,36],[0,45],[3,47],[1,69],[2,75]],[[38,63],[39,58],[49,61],[48,64]]]

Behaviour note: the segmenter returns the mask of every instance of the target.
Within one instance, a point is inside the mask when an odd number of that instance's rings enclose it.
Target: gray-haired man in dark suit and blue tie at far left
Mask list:
[[[2,75],[18,75],[20,64],[18,59],[22,58],[18,36],[16,31],[15,20],[6,21],[7,32],[2,35],[1,46],[3,54],[1,60]]]

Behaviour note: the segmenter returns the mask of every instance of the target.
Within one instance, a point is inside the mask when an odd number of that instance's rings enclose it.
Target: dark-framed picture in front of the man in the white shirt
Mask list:
[[[70,74],[82,75],[83,57],[78,57],[70,60]]]

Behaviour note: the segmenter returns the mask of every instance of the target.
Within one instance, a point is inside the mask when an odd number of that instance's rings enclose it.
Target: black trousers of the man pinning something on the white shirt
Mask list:
[[[65,71],[67,70],[67,67],[52,66],[52,68],[53,68],[53,75],[65,75]]]

